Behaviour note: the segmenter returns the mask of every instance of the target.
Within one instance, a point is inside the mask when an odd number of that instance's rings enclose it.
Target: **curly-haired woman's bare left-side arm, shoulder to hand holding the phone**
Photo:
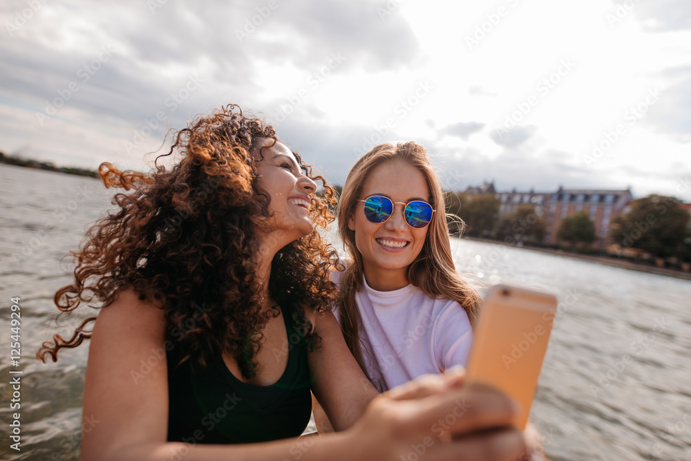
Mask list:
[[[299,440],[234,446],[167,442],[166,362],[159,361],[136,383],[132,375],[140,371],[142,359],[163,348],[163,341],[162,311],[139,301],[131,290],[100,312],[84,384],[84,416],[93,427],[84,431],[82,460],[399,460],[410,444],[435,435],[430,428],[453,412],[456,402],[468,402],[466,415],[448,426],[457,440],[437,440],[427,449],[429,461],[509,460],[523,449],[522,435],[506,429],[513,417],[509,399],[468,386],[412,396],[408,388],[406,400],[377,397],[352,429],[315,438],[307,448]],[[500,430],[483,431],[489,428]]]

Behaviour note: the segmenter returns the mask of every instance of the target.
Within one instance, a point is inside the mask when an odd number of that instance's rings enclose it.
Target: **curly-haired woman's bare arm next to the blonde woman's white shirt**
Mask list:
[[[306,311],[307,312],[307,311]],[[333,429],[348,429],[364,413],[370,401],[379,393],[360,369],[345,344],[341,328],[331,312],[311,312],[314,330],[321,344],[310,352],[312,392],[320,406],[314,416],[330,420]],[[315,402],[315,399],[312,399]]]

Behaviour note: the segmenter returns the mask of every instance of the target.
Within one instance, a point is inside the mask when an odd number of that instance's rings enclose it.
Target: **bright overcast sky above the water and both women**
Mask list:
[[[0,151],[145,169],[229,103],[342,184],[417,140],[446,187],[691,200],[691,1],[4,1]]]

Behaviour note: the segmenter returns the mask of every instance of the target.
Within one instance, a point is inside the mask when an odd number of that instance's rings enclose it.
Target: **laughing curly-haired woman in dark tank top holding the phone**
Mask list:
[[[91,339],[84,415],[99,422],[82,460],[399,460],[457,402],[470,409],[424,445],[428,459],[515,458],[511,402],[460,375],[369,404],[377,391],[328,312],[334,250],[315,227],[333,219],[333,189],[313,195],[323,178],[271,126],[228,106],[180,131],[173,155],[149,174],[102,164],[106,186],[129,192],[88,231],[74,283],[55,295],[63,313],[101,306],[39,351],[56,360]],[[304,431],[310,391],[347,430],[283,440]]]

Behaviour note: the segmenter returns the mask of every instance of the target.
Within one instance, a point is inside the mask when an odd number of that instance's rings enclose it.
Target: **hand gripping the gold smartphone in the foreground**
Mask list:
[[[489,386],[457,385],[458,378],[426,376],[375,398],[355,440],[377,440],[376,448],[388,453],[382,459],[516,461],[525,455],[523,433],[511,425],[518,406]]]

